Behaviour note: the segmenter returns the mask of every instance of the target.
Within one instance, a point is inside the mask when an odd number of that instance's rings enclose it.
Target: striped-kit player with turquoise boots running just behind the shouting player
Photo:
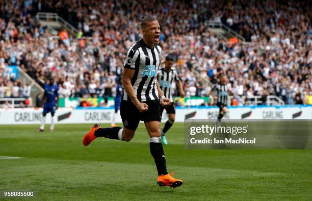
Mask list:
[[[171,86],[173,80],[177,83],[177,86],[180,91],[180,96],[183,98],[185,96],[185,93],[183,91],[182,83],[178,77],[177,72],[172,69],[173,65],[173,56],[172,55],[167,55],[166,61],[165,61],[165,67],[160,69],[158,73],[158,82],[161,87],[161,90],[164,92],[165,96],[172,100],[172,91],[171,91]],[[169,107],[164,108],[161,106],[161,114],[163,114],[164,109],[166,110],[168,114],[168,120],[165,123],[165,127],[162,130],[162,142],[167,145],[168,141],[166,139],[166,132],[172,127],[172,124],[175,120],[175,106],[174,104],[171,104]]]

